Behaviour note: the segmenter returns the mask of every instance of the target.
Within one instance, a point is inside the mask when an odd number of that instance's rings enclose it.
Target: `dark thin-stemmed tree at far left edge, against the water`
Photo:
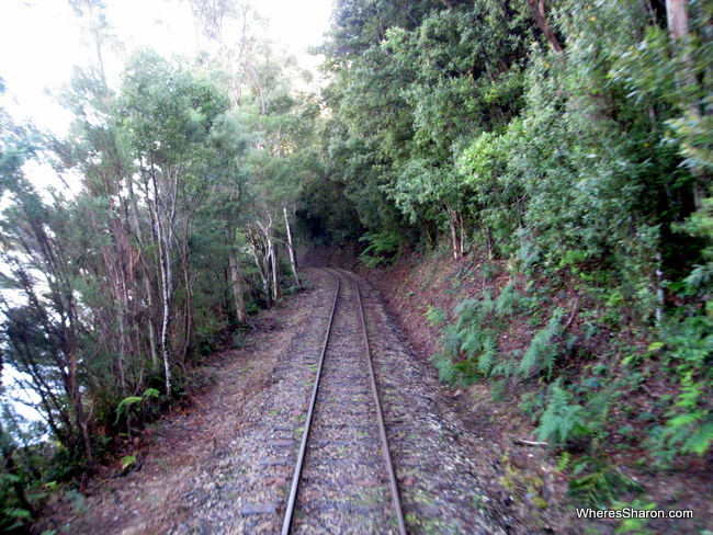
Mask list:
[[[54,435],[91,462],[81,382],[87,331],[75,293],[84,251],[67,203],[56,196],[48,204],[24,174],[41,145],[0,110],[0,340],[5,363],[24,374],[21,386],[38,396]]]

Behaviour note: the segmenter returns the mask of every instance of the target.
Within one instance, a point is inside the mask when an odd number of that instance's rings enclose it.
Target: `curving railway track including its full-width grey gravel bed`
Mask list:
[[[307,273],[315,291],[298,296],[304,305],[284,326],[261,334],[251,346],[254,356],[245,361],[263,366],[267,360],[259,391],[246,401],[245,390],[224,386],[235,394],[227,402],[220,398],[216,407],[225,414],[215,418],[224,422],[239,406],[239,426],[223,424],[225,434],[182,491],[180,520],[169,533],[274,535],[287,522],[293,535],[405,533],[380,439],[361,299],[408,533],[505,535],[508,519],[489,505],[480,475],[493,473],[474,453],[485,444],[490,455],[489,446],[439,403],[430,367],[403,346],[376,292],[359,280],[358,294],[343,272]],[[247,379],[252,368],[239,373]],[[305,439],[308,412],[313,424]],[[297,457],[302,468],[294,483]]]

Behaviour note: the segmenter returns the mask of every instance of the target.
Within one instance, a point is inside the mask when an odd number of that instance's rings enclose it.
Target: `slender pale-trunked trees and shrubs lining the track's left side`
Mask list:
[[[193,5],[206,52],[136,50],[114,84],[104,3],[72,5],[98,57],[61,96],[69,135],[0,109],[0,531],[107,453],[131,468],[133,437],[200,379],[193,365],[299,286],[295,202],[320,172],[319,105],[247,5]]]

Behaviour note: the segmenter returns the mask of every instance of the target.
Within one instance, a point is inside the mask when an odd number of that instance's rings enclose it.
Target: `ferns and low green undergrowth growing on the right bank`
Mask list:
[[[643,447],[638,469],[671,469],[687,456],[706,455],[713,444],[713,306],[710,284],[701,283],[706,273],[672,288],[683,305],[658,322],[633,317],[618,287],[596,271],[545,278],[535,270],[511,270],[499,293],[482,275],[477,297],[452,310],[429,309],[427,319],[441,332],[432,362],[452,386],[486,382],[499,399],[520,396],[533,439],[559,456],[575,501],[632,506],[621,497],[643,492],[625,474],[636,466],[614,465],[612,453]],[[477,273],[464,276],[475,280]],[[652,398],[654,384],[665,391]],[[632,400],[647,410],[637,411]],[[655,506],[638,498],[634,504]]]

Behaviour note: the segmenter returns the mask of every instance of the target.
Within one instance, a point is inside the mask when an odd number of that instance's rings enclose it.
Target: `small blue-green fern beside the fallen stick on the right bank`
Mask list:
[[[571,435],[587,433],[582,407],[573,403],[574,396],[557,379],[551,385],[547,408],[535,430],[539,439],[551,445],[563,445]]]

